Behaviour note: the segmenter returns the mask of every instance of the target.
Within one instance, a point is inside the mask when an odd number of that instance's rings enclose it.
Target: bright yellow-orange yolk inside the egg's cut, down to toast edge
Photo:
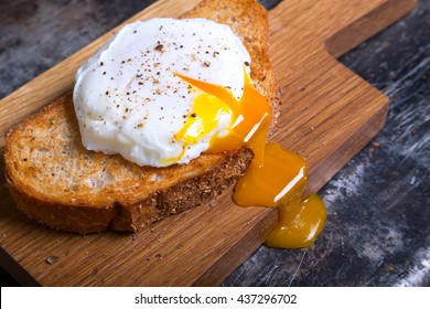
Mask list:
[[[239,100],[237,100],[232,95],[230,90],[222,86],[194,79],[179,73],[175,73],[175,75],[187,82],[190,85],[205,92],[205,94],[197,96],[197,98],[194,100],[193,114],[195,114],[195,118],[201,118],[202,122],[213,122],[211,119],[215,119],[216,117],[214,115],[219,115],[221,111],[227,113],[227,110],[229,110],[229,113],[233,115],[233,125],[229,128],[229,134],[225,137],[212,138],[209,149],[206,152],[219,153],[223,151],[236,150],[246,145],[254,151],[255,158],[252,162],[262,164],[266,136],[271,118],[271,109],[266,98],[254,88],[245,68],[244,92]],[[206,99],[209,104],[208,109],[204,110],[206,107],[204,105]],[[213,108],[213,106],[215,106],[215,104],[213,104],[214,102],[216,102],[216,105],[219,106],[219,110]],[[224,105],[222,103],[224,103]],[[197,113],[196,109],[200,109],[201,113]],[[195,122],[195,119],[190,120],[190,118],[191,117],[189,116],[187,122],[181,129],[179,135],[176,135],[176,137],[181,136],[182,140],[185,142],[191,141],[191,139],[186,137],[192,136],[197,139],[198,137],[202,137],[208,132],[208,130],[203,129],[198,131],[198,135],[193,134],[192,125]],[[216,119],[216,122],[218,118]],[[216,127],[216,124],[213,126],[207,126],[207,128],[208,127],[213,129]]]

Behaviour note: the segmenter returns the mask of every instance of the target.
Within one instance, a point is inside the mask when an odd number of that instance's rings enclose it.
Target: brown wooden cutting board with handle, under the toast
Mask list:
[[[129,21],[179,17],[198,1],[161,0]],[[402,17],[415,0],[286,0],[270,11],[270,56],[282,89],[273,139],[303,156],[318,191],[383,127],[388,98],[335,57]],[[0,103],[0,131],[72,89],[75,71],[112,32]],[[0,140],[1,152],[4,140]],[[262,243],[277,211],[241,209],[230,192],[136,234],[80,236],[23,216],[0,162],[0,263],[23,285],[217,285]]]

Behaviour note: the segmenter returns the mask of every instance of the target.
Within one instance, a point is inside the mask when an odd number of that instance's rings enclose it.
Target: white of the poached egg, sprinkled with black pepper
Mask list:
[[[74,105],[83,145],[139,166],[189,163],[228,134],[229,114],[197,142],[175,135],[202,90],[175,75],[230,89],[240,98],[250,56],[224,24],[204,19],[151,19],[125,25],[76,74]],[[249,74],[249,68],[246,66]]]

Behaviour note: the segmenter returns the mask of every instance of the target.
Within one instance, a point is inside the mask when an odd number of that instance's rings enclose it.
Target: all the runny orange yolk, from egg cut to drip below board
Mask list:
[[[241,147],[252,150],[252,162],[235,187],[235,203],[279,209],[279,222],[270,232],[265,243],[267,246],[309,247],[324,227],[324,204],[318,194],[302,201],[308,179],[304,160],[277,143],[267,143],[271,109],[267,99],[252,86],[248,74],[244,73],[240,99],[222,86],[176,74],[204,92],[195,98],[194,110],[176,138],[185,146],[196,142],[217,126],[222,113],[229,114],[233,125],[228,134],[213,137],[207,152],[218,153]]]

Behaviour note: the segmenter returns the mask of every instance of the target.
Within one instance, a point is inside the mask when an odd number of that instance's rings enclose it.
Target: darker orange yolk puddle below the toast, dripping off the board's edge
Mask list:
[[[267,143],[264,166],[252,164],[236,184],[233,199],[240,206],[277,206],[278,225],[265,245],[310,247],[325,224],[326,211],[318,194],[301,201],[307,184],[304,160],[277,143]]]

